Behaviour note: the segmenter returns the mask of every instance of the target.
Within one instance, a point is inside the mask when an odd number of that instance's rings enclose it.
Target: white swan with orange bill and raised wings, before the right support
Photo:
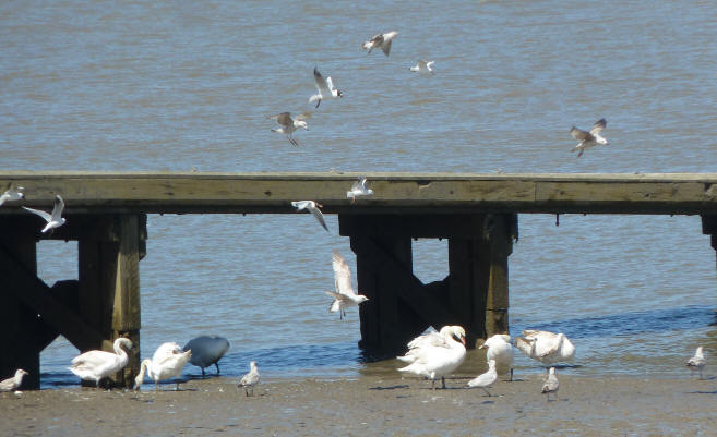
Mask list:
[[[442,387],[445,388],[445,375],[458,368],[466,357],[466,331],[459,326],[451,326],[441,328],[441,332],[450,333],[431,336],[430,339],[421,339],[423,337],[421,336],[408,343],[410,350],[398,359],[413,361],[406,367],[399,368],[398,372],[408,372],[430,378],[432,388],[435,388],[435,379],[440,377]],[[454,338],[461,341],[458,342]]]

